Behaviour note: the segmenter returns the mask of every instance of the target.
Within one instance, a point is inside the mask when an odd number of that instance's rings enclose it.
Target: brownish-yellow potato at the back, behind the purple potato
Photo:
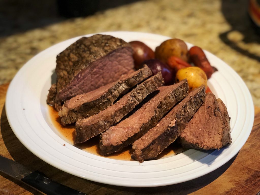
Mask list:
[[[186,43],[178,38],[166,40],[162,42],[160,46],[155,48],[155,58],[164,63],[166,63],[168,58],[171,56],[177,56],[187,62],[187,53],[188,48]]]

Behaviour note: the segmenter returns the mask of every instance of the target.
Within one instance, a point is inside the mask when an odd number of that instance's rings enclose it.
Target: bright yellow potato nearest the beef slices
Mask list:
[[[183,79],[187,79],[190,91],[202,85],[207,89],[207,76],[199,67],[187,67],[178,70],[176,73],[176,82],[178,83]]]

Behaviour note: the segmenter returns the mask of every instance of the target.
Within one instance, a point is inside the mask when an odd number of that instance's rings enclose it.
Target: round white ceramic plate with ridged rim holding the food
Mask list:
[[[169,37],[137,32],[106,32],[125,41],[140,40],[152,49]],[[91,36],[91,35],[86,35]],[[58,43],[28,61],[12,80],[6,96],[6,115],[17,138],[36,156],[65,172],[88,180],[119,186],[163,186],[200,177],[229,161],[246,142],[253,125],[254,106],[248,88],[225,62],[205,51],[218,71],[209,79],[212,92],[220,97],[231,117],[232,144],[214,151],[193,149],[158,160],[108,159],[66,142],[53,126],[46,98],[56,55],[78,40]],[[192,45],[188,43],[188,47]],[[63,144],[66,146],[63,146]]]

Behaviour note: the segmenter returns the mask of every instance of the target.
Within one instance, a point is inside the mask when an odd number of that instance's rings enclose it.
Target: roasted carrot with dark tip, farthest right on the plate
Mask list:
[[[200,47],[193,46],[192,48],[190,48],[189,55],[190,60],[193,62],[193,64],[204,70],[208,79],[217,70],[215,67],[212,67],[210,65],[209,60],[207,59],[204,51]]]

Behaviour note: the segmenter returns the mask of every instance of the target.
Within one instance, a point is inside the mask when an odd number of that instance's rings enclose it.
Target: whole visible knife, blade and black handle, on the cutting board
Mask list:
[[[0,171],[47,195],[86,195],[59,184],[41,173],[30,171],[22,164],[0,155]]]

